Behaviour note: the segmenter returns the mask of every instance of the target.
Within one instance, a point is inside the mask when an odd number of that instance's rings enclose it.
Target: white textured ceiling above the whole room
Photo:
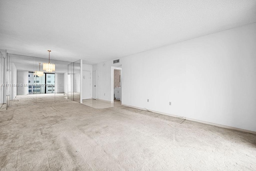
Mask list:
[[[256,22],[256,0],[0,0],[0,48],[85,64]]]

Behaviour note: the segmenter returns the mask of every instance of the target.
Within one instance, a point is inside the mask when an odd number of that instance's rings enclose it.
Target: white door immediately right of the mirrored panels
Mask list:
[[[83,95],[82,99],[91,98],[91,72],[83,71]]]

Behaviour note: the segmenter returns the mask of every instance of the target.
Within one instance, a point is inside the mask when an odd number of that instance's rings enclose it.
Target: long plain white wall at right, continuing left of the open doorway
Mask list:
[[[255,47],[253,23],[121,58],[122,104],[256,131]],[[94,66],[109,101],[111,62]]]

